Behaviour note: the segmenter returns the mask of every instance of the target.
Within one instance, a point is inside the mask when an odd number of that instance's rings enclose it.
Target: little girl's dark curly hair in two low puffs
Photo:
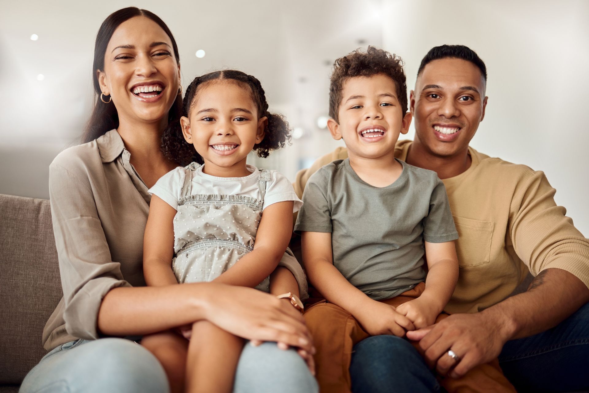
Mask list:
[[[234,81],[248,88],[252,95],[252,100],[256,104],[258,118],[264,116],[268,118],[264,139],[254,147],[258,156],[268,157],[270,150],[276,150],[286,146],[287,141],[290,141],[289,124],[284,120],[282,115],[269,113],[266,93],[264,93],[262,84],[252,75],[247,75],[245,72],[237,70],[214,71],[194,78],[186,88],[181,116],[190,117],[190,110],[201,88],[213,81],[220,80]],[[162,147],[164,154],[180,165],[187,165],[191,161],[194,161],[194,147],[184,140],[179,118],[168,123],[168,127],[162,137]]]

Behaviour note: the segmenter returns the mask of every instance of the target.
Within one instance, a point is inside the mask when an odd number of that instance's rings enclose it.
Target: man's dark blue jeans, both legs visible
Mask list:
[[[394,336],[373,336],[354,346],[353,393],[437,392],[438,382],[417,351]],[[558,326],[508,341],[501,368],[521,392],[589,389],[589,303]]]

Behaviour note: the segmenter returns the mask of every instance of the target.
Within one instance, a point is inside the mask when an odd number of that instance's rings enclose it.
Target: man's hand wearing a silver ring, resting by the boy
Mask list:
[[[459,378],[475,366],[497,358],[507,342],[504,324],[500,318],[492,317],[485,313],[455,314],[425,329],[408,332],[407,338],[419,341],[429,366],[439,374],[451,370],[449,376]],[[448,355],[449,349],[458,359]]]

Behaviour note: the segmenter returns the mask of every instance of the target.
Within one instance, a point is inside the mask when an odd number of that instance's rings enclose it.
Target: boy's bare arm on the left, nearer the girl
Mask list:
[[[330,302],[351,313],[371,335],[405,335],[413,330],[409,319],[395,308],[376,302],[346,280],[333,266],[332,234],[302,232],[303,260],[309,281]]]

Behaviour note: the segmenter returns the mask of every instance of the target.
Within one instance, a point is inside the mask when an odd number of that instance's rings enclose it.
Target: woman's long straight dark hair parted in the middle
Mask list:
[[[155,15],[153,12],[147,11],[147,9],[139,9],[137,7],[127,7],[119,9],[118,11],[112,12],[112,14],[108,15],[100,29],[98,29],[98,34],[96,35],[96,42],[94,44],[94,63],[92,64],[92,80],[94,81],[94,91],[96,92],[96,102],[94,104],[94,109],[92,110],[92,115],[90,116],[90,120],[88,120],[88,124],[86,125],[86,129],[84,131],[84,135],[82,136],[82,143],[90,142],[102,135],[104,135],[107,131],[112,130],[112,128],[118,128],[118,113],[117,108],[115,108],[112,102],[105,104],[100,100],[100,94],[102,91],[100,90],[100,85],[98,84],[98,77],[96,75],[96,70],[104,70],[104,54],[107,51],[108,42],[110,41],[112,34],[114,31],[125,21],[128,19],[134,18],[135,16],[145,16],[145,18],[149,18],[155,23],[157,23],[164,32],[170,37],[170,41],[172,41],[172,48],[174,49],[174,57],[176,57],[176,61],[180,64],[180,55],[178,54],[178,46],[176,45],[176,40],[172,35],[172,32],[167,27],[167,25],[160,19],[159,16]],[[177,95],[176,101],[172,104],[170,109],[170,113],[168,114],[168,121],[174,121],[180,118],[180,111],[182,108],[182,97],[180,94]]]

